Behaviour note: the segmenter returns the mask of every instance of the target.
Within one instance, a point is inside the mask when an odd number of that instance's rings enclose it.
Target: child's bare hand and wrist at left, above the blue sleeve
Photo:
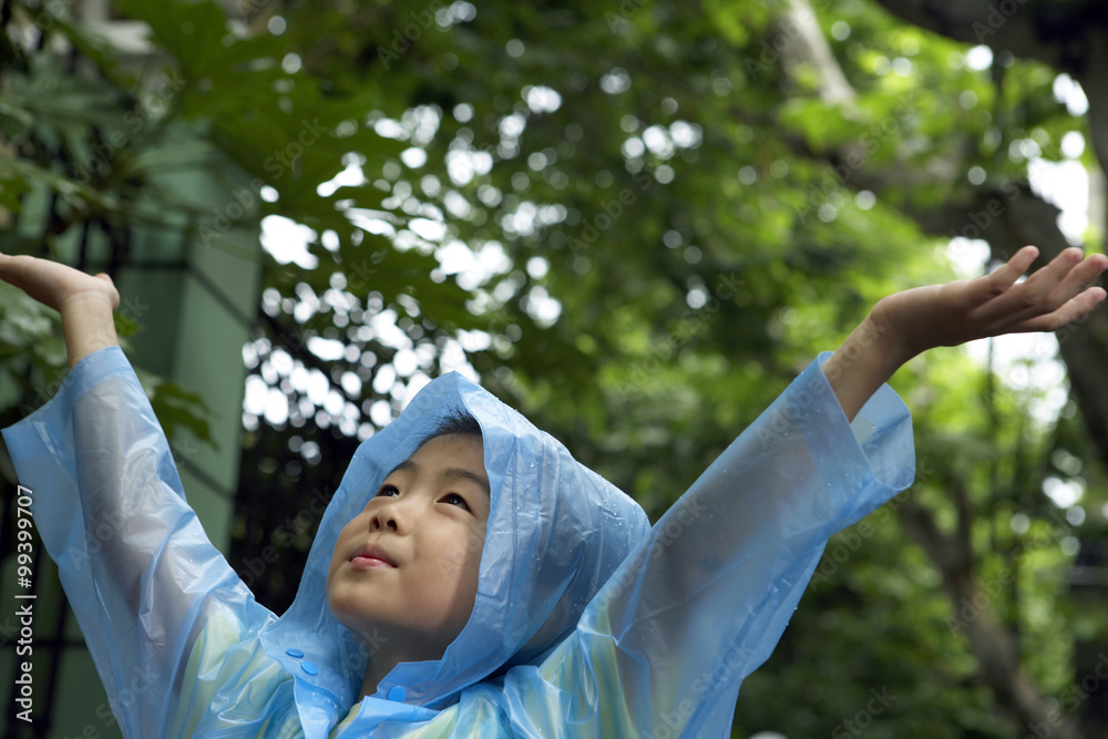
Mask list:
[[[70,367],[104,347],[119,346],[112,314],[120,292],[112,278],[30,256],[0,254],[0,279],[62,316]]]

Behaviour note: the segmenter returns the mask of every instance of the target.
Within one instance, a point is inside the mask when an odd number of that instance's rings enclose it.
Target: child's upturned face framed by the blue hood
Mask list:
[[[335,617],[409,660],[439,659],[473,610],[489,521],[478,437],[424,443],[339,534],[327,574]]]

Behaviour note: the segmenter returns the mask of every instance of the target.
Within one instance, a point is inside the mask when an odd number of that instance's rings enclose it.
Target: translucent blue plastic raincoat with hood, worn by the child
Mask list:
[[[119,348],[4,439],[129,737],[726,737],[828,537],[914,475],[896,394],[849,424],[823,359],[653,527],[519,413],[439,378],[358,449],[279,618],[205,536]],[[331,553],[454,409],[481,424],[491,483],[473,612],[441,659],[358,701],[373,636],[330,614]]]

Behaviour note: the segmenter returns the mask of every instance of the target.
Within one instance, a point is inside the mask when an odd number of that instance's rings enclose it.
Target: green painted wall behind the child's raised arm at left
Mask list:
[[[184,184],[195,187],[195,183]],[[199,192],[225,191],[209,183]],[[249,321],[259,299],[260,252],[230,254],[198,243],[183,245],[179,234],[165,232],[136,230],[133,239],[129,255],[132,266],[116,275],[121,310],[141,326],[131,338],[127,356],[136,368],[197,392],[213,409],[209,423],[217,449],[188,435],[176,439],[173,447],[188,501],[213,543],[226,553],[238,485],[245,379],[242,347],[248,339]],[[96,252],[106,255],[106,250],[93,249],[92,256]],[[92,270],[101,268],[91,265]],[[34,585],[38,599],[32,676],[37,684],[37,720],[33,726],[13,722],[3,727],[0,737],[9,736],[8,731],[10,736],[50,739],[121,737],[76,619],[61,607],[57,568],[44,552],[42,555]],[[2,599],[7,604],[14,603],[14,561],[4,563],[2,573]],[[51,645],[60,626],[65,646],[55,656]],[[18,630],[17,623],[0,616],[0,633],[6,639]],[[4,698],[14,679],[14,659],[12,648],[0,649],[0,695]],[[48,718],[48,685],[53,679],[55,699]]]

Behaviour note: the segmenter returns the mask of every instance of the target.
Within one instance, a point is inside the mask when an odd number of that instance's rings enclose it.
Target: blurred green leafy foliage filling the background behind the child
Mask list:
[[[153,43],[127,54],[78,3],[9,0],[0,249],[111,269],[172,225],[260,256],[230,561],[285,525],[254,584],[278,613],[306,491],[447,369],[657,515],[882,295],[1065,246],[1036,162],[1102,177],[1096,3],[917,4],[123,0]],[[222,207],[160,185],[195,168]],[[47,312],[3,292],[6,424],[64,365]],[[1047,342],[897,374],[917,482],[832,541],[735,736],[1104,736],[1102,318],[1058,337],[1066,365]]]

